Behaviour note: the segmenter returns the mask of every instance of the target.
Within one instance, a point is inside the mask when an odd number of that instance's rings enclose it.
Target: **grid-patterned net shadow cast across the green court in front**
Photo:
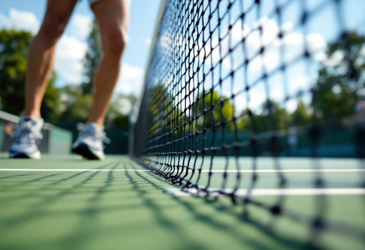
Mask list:
[[[113,169],[118,164],[107,166]],[[133,164],[128,166],[130,169],[134,167]],[[47,246],[87,249],[85,246],[89,242],[108,238],[108,234],[119,234],[126,246],[134,246],[135,240],[143,235],[149,239],[145,247],[152,244],[152,248],[161,248],[160,240],[146,235],[151,234],[153,228],[160,233],[169,232],[172,239],[166,240],[166,244],[177,243],[184,249],[212,249],[207,244],[211,234],[222,236],[222,244],[229,245],[231,241],[233,247],[267,249],[271,245],[308,249],[311,246],[305,241],[289,240],[265,230],[261,232],[260,225],[245,219],[242,214],[230,212],[228,208],[215,207],[208,199],[172,196],[166,192],[169,184],[150,172],[49,174],[39,171],[21,175],[2,172],[1,178],[1,245],[9,249],[24,246],[28,249],[45,249]],[[112,220],[116,222],[112,223]],[[242,227],[241,223],[246,225]],[[148,230],[143,230],[142,225]],[[30,227],[33,231],[28,231]],[[250,235],[253,228],[260,233]],[[129,230],[132,232],[127,233]],[[14,240],[11,235],[17,234],[20,236]],[[123,234],[127,236],[123,238]],[[192,236],[194,234],[200,236]],[[115,242],[114,239],[109,244]]]

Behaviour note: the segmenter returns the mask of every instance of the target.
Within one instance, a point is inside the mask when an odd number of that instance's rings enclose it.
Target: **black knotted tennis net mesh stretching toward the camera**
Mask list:
[[[284,204],[292,188],[338,187],[322,171],[332,162],[319,158],[364,156],[364,6],[168,0],[133,126],[135,159],[184,192],[309,225],[313,239],[332,230],[363,240],[361,227],[326,217],[326,196],[310,215]],[[303,164],[312,175],[289,183],[288,169]],[[265,171],[278,190],[269,202],[259,198]]]

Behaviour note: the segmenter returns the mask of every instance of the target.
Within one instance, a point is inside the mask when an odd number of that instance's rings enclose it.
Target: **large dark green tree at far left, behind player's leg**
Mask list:
[[[25,31],[0,30],[0,101],[6,112],[19,115],[24,108],[24,83],[27,53],[32,35]],[[54,87],[53,72],[42,103],[43,118],[57,119],[61,115],[59,89]]]

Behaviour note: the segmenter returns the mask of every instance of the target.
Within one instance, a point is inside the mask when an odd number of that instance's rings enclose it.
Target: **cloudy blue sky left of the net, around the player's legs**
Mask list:
[[[35,34],[42,22],[46,2],[1,0],[0,28],[13,26],[20,30],[33,31]],[[139,94],[159,7],[160,0],[132,1],[129,41],[123,56],[122,74],[116,92]],[[82,82],[80,59],[86,49],[87,26],[92,19],[93,13],[88,1],[79,1],[64,37],[57,45],[55,70],[59,75],[58,86]]]

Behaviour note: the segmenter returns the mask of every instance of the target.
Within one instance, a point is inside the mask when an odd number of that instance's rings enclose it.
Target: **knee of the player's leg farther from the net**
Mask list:
[[[53,40],[61,37],[67,24],[67,19],[58,15],[47,15],[43,20],[41,30],[44,37]]]

